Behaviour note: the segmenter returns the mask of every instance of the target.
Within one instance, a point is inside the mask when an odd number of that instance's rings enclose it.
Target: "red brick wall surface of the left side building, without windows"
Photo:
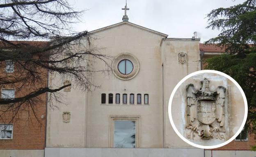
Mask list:
[[[21,84],[15,84],[16,89],[15,97],[22,97],[28,93],[31,93],[35,89],[47,86],[47,71],[40,70],[44,76],[40,82],[36,84],[30,84],[27,82],[21,87]],[[15,70],[14,73],[5,72],[5,64],[0,63],[0,77],[20,75],[20,71]],[[0,85],[0,88],[14,88],[14,86]],[[1,89],[0,89],[1,90]],[[34,103],[34,111],[38,117],[35,118],[32,107],[28,104],[21,106],[18,115],[11,124],[13,124],[13,139],[0,139],[0,149],[44,149],[45,147],[45,136],[46,136],[46,93],[39,95]],[[0,115],[10,105],[0,105]],[[44,116],[41,119],[41,115]],[[12,111],[2,115],[0,118],[0,124],[8,124],[13,117]]]

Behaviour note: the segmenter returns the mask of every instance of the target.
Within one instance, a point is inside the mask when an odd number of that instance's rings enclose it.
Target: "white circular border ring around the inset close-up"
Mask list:
[[[178,129],[176,128],[175,124],[174,124],[174,121],[171,117],[171,102],[172,102],[172,99],[174,97],[174,94],[176,93],[177,89],[179,86],[181,86],[181,84],[187,80],[188,78],[194,76],[194,75],[197,75],[197,74],[201,74],[201,73],[215,73],[215,74],[219,74],[219,75],[222,75],[226,78],[228,78],[229,80],[231,80],[239,89],[239,91],[241,92],[242,94],[242,97],[244,99],[244,103],[245,103],[245,116],[244,116],[244,119],[243,119],[243,122],[242,122],[242,125],[240,126],[240,128],[238,129],[237,133],[235,133],[235,135],[233,135],[233,137],[231,137],[229,140],[223,142],[222,144],[217,144],[217,145],[213,145],[213,146],[202,146],[202,145],[199,145],[199,144],[195,144],[193,142],[190,142],[188,139],[186,139],[185,137],[183,137],[183,135],[181,135],[181,133],[178,131]],[[242,90],[241,86],[238,84],[238,82],[236,82],[232,77],[230,77],[229,75],[225,74],[225,73],[222,73],[220,71],[215,71],[215,70],[201,70],[201,71],[196,71],[194,73],[190,73],[189,75],[185,76],[180,82],[178,82],[178,84],[174,87],[174,90],[171,92],[171,96],[170,96],[170,99],[169,99],[169,105],[168,105],[168,114],[169,114],[169,120],[171,122],[171,126],[172,128],[174,129],[175,133],[184,141],[186,142],[187,144],[190,144],[194,147],[197,147],[197,148],[203,148],[203,149],[214,149],[214,148],[219,148],[219,147],[222,147],[226,144],[228,144],[229,142],[233,141],[235,139],[235,137],[237,137],[240,132],[242,131],[243,127],[245,126],[245,122],[246,122],[246,119],[247,119],[247,113],[248,113],[248,106],[247,106],[247,99],[245,97],[245,93],[244,91]]]

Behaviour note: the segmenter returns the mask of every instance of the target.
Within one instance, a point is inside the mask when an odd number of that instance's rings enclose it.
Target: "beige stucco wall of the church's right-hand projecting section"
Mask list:
[[[176,84],[186,75],[200,70],[200,40],[169,38],[162,41],[165,148],[192,147],[176,135],[168,116],[168,104],[171,92]],[[187,53],[187,63],[178,63],[178,53]]]

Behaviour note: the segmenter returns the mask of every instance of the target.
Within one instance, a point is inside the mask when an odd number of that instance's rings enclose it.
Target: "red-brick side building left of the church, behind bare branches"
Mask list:
[[[21,42],[12,41],[14,44],[27,44],[41,46],[46,42]],[[12,47],[0,43],[2,50],[11,51]],[[37,88],[47,86],[48,71],[39,69],[43,76],[41,82],[34,84]],[[13,79],[24,76],[24,71],[19,68],[19,64],[12,60],[0,62],[0,77]],[[5,84],[1,82],[1,98],[23,97],[33,92],[34,86],[31,82]],[[46,139],[46,93],[37,97],[34,106],[23,104],[16,108],[18,104],[0,105],[0,157],[43,157]],[[32,108],[33,107],[33,108]],[[38,117],[38,120],[35,118]]]

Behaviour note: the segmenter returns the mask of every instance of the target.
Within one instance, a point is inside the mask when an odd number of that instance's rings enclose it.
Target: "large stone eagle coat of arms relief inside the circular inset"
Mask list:
[[[209,80],[201,81],[197,90],[188,84],[187,91],[187,122],[186,136],[191,140],[226,140],[225,99],[226,88],[218,86],[210,91]]]

